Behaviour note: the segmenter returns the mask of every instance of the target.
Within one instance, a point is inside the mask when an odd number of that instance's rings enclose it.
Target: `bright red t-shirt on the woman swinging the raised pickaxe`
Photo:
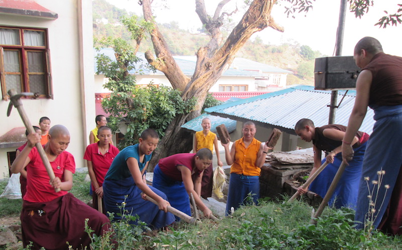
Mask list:
[[[27,193],[24,196],[24,200],[47,202],[67,194],[67,191],[56,193],[49,184],[50,178],[36,148],[31,150],[28,157],[31,161],[27,165]],[[68,170],[71,173],[75,172],[74,157],[67,151],[63,151],[58,155],[53,162],[50,162],[50,165],[55,176],[59,177],[61,181],[64,181],[64,170]]]

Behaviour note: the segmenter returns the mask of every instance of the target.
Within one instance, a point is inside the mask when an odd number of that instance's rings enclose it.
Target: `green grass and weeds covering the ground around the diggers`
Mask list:
[[[74,174],[71,192],[87,202],[89,183],[86,173]],[[0,182],[3,191],[7,182]],[[4,199],[0,210],[19,215],[21,200]],[[141,233],[122,222],[115,225],[121,236],[116,249],[402,249],[402,236],[387,236],[354,229],[354,211],[326,208],[317,226],[309,224],[312,207],[303,201],[282,204],[262,201],[259,206],[242,207],[233,217],[217,222],[203,220],[200,225],[176,223],[168,231]],[[116,234],[115,234],[116,235]],[[108,238],[95,236],[92,249],[109,249]],[[109,245],[108,245],[109,244]],[[120,247],[121,246],[121,247]]]

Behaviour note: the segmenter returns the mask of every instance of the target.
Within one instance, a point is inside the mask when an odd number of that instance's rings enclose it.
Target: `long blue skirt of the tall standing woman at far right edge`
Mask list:
[[[369,199],[367,196],[369,195],[369,190],[364,178],[368,177],[368,186],[371,191],[374,186],[372,181],[378,180],[377,172],[380,170],[385,171],[378,193],[374,191],[372,194],[373,201],[377,197],[374,207],[374,228],[377,228],[384,215],[395,183],[402,181],[397,178],[402,167],[402,105],[376,106],[373,109],[376,122],[373,133],[367,142],[366,154],[363,160],[355,215],[355,220],[360,221],[357,224],[357,228],[362,228],[368,218]],[[389,189],[386,189],[384,185],[389,185]],[[375,186],[376,189],[377,186]],[[383,203],[382,206],[381,203]],[[396,227],[398,226],[400,224]]]

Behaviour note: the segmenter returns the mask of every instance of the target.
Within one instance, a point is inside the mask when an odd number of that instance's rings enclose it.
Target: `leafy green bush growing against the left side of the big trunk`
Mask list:
[[[152,25],[138,21],[136,17],[125,18],[123,23],[128,26],[137,44],[141,43],[145,32],[152,28]],[[96,73],[103,73],[109,78],[104,87],[111,94],[103,99],[102,106],[110,114],[108,126],[112,131],[125,134],[119,148],[137,143],[139,135],[148,128],[155,129],[163,137],[165,129],[177,114],[189,113],[195,107],[194,98],[184,101],[181,92],[171,87],[155,87],[152,82],[146,88],[137,86],[135,75],[150,66],[141,65],[141,59],[128,42],[109,37],[97,43],[112,47],[116,56],[114,60],[105,54],[98,54]],[[127,127],[126,131],[121,129],[122,125]]]

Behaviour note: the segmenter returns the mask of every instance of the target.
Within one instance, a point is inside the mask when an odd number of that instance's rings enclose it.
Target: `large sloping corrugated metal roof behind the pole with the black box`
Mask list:
[[[339,91],[338,104],[345,91]],[[347,126],[356,92],[348,91],[335,115],[335,123]],[[268,126],[281,127],[292,132],[301,118],[309,118],[317,127],[328,124],[331,91],[314,90],[313,86],[297,85],[287,89],[262,94],[239,101],[224,103],[205,111],[232,119],[253,120]],[[367,109],[360,131],[371,134],[374,112]]]

